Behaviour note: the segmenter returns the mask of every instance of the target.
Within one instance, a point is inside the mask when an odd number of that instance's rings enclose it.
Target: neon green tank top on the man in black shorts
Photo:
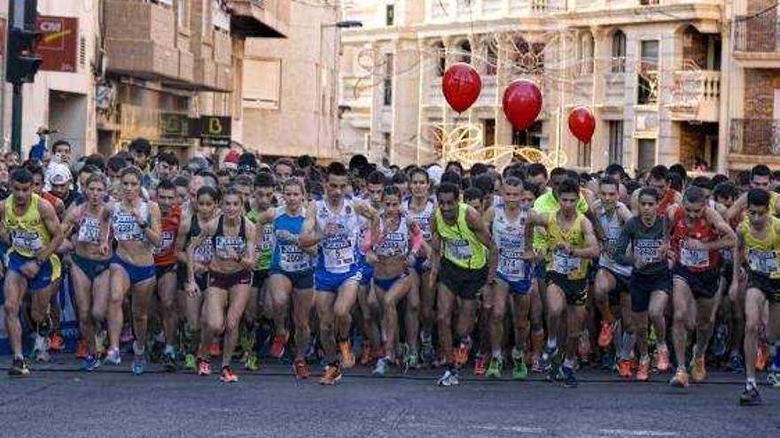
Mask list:
[[[441,210],[436,209],[436,231],[444,245],[444,258],[463,269],[478,270],[487,265],[487,248],[477,238],[466,221],[467,204],[459,204],[457,220],[453,225],[444,222]]]

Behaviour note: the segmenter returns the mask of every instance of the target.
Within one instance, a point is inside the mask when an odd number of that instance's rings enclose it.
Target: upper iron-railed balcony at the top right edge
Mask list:
[[[776,68],[780,66],[780,38],[777,12],[771,10],[751,19],[734,20],[734,58],[745,67]]]

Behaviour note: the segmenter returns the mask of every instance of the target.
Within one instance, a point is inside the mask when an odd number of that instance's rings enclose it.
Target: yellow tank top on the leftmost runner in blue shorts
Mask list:
[[[49,228],[41,219],[38,204],[45,202],[41,196],[32,195],[27,211],[17,215],[14,211],[14,196],[5,199],[5,229],[11,238],[11,249],[22,257],[35,257],[38,250],[43,250],[51,242]],[[59,257],[51,255],[51,279],[57,280],[60,275]]]

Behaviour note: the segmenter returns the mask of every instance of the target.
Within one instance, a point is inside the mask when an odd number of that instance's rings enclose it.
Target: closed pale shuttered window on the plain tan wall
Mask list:
[[[278,110],[282,89],[281,59],[244,59],[244,107]]]

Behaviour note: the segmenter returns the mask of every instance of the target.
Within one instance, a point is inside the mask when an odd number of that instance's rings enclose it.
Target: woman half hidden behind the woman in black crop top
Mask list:
[[[179,266],[176,270],[177,282],[183,291],[181,295],[184,304],[181,308],[185,309],[186,314],[183,335],[184,367],[189,370],[198,369],[195,355],[198,354],[200,342],[202,293],[208,288],[208,265],[214,256],[214,242],[211,239],[204,239],[191,251],[190,242],[200,234],[200,224],[207,224],[214,219],[219,199],[214,188],[202,187],[198,189],[195,200],[196,202],[193,203],[195,211],[189,217],[184,217],[176,234],[176,252],[179,257]],[[188,260],[192,260],[194,273],[190,272]],[[186,293],[191,279],[195,281],[198,288],[191,290],[191,293]]]

